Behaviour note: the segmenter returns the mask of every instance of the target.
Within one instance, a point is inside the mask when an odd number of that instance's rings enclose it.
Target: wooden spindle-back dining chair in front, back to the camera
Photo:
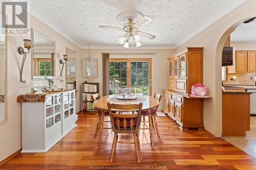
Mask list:
[[[107,105],[108,105],[110,118],[111,118],[112,131],[115,133],[113,144],[112,144],[110,162],[113,161],[113,156],[114,156],[117,143],[128,143],[128,144],[134,143],[137,162],[140,163],[138,132],[140,129],[140,122],[141,122],[142,103],[120,105],[120,104],[111,104],[108,102]],[[116,113],[116,112],[119,112],[119,113]],[[136,112],[136,113],[131,114],[126,112]],[[134,137],[134,142],[117,141],[118,133],[132,133]]]

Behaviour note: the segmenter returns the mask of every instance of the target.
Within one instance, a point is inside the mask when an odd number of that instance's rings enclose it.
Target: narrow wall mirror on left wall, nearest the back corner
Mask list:
[[[66,54],[69,56],[66,66],[66,83],[76,89],[76,52],[66,47]]]

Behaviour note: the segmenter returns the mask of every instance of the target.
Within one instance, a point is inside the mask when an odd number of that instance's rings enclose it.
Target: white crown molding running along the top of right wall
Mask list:
[[[224,5],[222,5],[219,9],[217,9],[215,12],[213,12],[210,16],[205,18],[202,22],[200,22],[195,28],[191,29],[190,32],[188,32],[186,35],[184,35],[182,38],[178,40],[178,42],[174,45],[174,48],[177,48],[179,45],[183,44],[190,38],[194,37],[210,25],[212,25],[214,22],[222,18],[224,15],[232,11],[233,9],[237,8],[247,0],[236,0],[231,1],[229,0]]]

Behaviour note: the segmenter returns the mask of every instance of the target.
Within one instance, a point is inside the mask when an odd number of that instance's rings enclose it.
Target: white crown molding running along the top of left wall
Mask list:
[[[30,14],[81,48],[81,43],[77,39],[75,39],[71,33],[69,33],[67,30],[61,27],[57,22],[55,22],[51,17],[49,17],[44,11],[37,8],[32,2],[30,2]]]

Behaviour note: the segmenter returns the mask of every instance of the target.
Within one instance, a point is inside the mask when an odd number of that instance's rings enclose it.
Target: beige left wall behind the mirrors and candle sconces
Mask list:
[[[64,38],[44,23],[31,16],[31,27],[56,41],[56,76],[60,74],[59,59],[66,54],[66,46],[81,55],[80,48]],[[8,37],[8,120],[0,125],[0,161],[22,148],[22,106],[16,102],[19,94],[30,92],[29,82],[32,77],[31,53],[27,56],[23,78],[26,83],[19,81],[20,64],[22,55],[17,53],[18,46],[23,46],[23,39],[31,39],[30,36]],[[80,96],[80,95],[78,95]]]

